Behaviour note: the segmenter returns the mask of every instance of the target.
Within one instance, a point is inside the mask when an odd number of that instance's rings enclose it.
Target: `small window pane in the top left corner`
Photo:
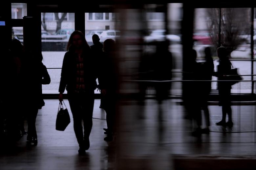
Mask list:
[[[11,19],[22,19],[27,16],[27,4],[11,3]]]

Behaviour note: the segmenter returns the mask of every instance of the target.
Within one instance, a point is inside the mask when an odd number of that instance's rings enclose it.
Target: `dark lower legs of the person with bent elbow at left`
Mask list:
[[[35,121],[36,121],[36,116],[38,113],[38,108],[32,107],[27,109],[27,114],[28,114],[28,136],[27,139],[31,140],[31,138],[37,138],[36,134],[36,128],[35,128]]]

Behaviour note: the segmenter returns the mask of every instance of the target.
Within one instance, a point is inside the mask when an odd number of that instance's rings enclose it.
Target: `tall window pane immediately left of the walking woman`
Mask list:
[[[59,20],[64,13],[58,13]],[[67,13],[69,17],[74,13]],[[63,20],[60,23],[53,19],[54,13],[42,13],[41,37],[43,63],[51,76],[50,85],[43,85],[43,93],[58,93],[60,73],[66,47],[71,33],[75,30],[74,20]],[[66,16],[67,18],[67,16]],[[45,19],[45,20],[44,20]],[[70,18],[69,18],[70,19]]]

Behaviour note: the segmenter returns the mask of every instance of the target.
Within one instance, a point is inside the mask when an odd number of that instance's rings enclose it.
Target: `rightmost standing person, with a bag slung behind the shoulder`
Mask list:
[[[215,76],[218,80],[227,80],[225,75],[229,75],[231,70],[231,62],[228,59],[228,52],[226,48],[219,47],[217,49],[217,55],[220,59],[220,64],[217,66],[217,72]],[[219,105],[222,106],[222,120],[217,122],[217,126],[232,127],[232,110],[231,110],[231,84],[228,81],[218,82],[219,90]],[[226,115],[228,115],[228,122],[226,122]]]

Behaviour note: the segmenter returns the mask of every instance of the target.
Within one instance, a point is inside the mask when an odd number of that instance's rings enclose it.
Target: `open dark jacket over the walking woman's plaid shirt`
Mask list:
[[[84,56],[84,84],[85,91],[93,92],[96,89],[96,78],[97,78],[97,69],[95,67],[96,61],[92,58],[91,50],[88,49]],[[68,93],[74,92],[76,85],[76,54],[72,51],[66,52],[62,69],[61,69],[61,78],[59,84],[59,92],[63,93],[65,88]]]

